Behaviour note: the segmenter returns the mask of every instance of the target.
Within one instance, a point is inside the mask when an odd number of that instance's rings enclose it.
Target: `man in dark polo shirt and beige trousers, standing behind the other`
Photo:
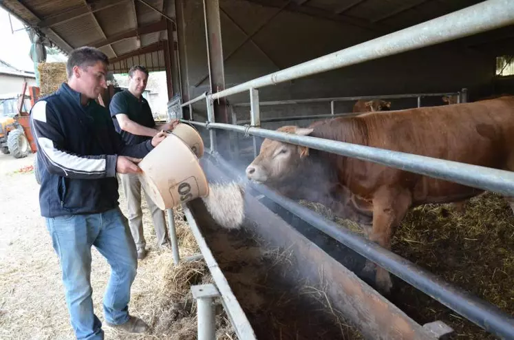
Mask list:
[[[164,125],[156,125],[151,114],[150,105],[143,98],[142,93],[147,88],[148,71],[144,66],[135,65],[129,70],[129,88],[118,92],[112,97],[109,104],[116,131],[121,135],[127,145],[137,145],[151,139],[160,130],[173,130],[178,120],[172,120]],[[146,256],[147,242],[144,240],[141,211],[141,183],[138,176],[132,173],[120,175],[121,184],[128,205],[128,219],[130,231],[138,251],[138,259]],[[164,218],[164,211],[159,209],[147,197],[148,208],[156,231],[157,246],[169,247],[168,229]]]

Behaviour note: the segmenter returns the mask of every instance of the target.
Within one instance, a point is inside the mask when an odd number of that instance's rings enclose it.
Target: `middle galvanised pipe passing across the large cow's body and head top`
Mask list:
[[[192,123],[192,122],[191,122]],[[198,124],[201,125],[201,124]],[[206,126],[204,124],[204,126]],[[419,173],[420,175],[449,180],[459,184],[475,187],[486,191],[501,193],[509,197],[514,196],[514,172],[500,169],[481,167],[479,165],[465,164],[452,160],[441,160],[411,153],[367,147],[336,140],[286,134],[285,132],[259,129],[256,127],[240,127],[230,124],[211,123],[209,129],[224,129],[239,131],[262,138],[270,138],[290,144],[312,147],[313,149],[337,153],[341,156],[368,160],[387,167]]]

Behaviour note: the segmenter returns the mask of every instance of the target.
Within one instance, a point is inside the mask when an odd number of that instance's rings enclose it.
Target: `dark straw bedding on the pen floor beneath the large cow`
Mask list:
[[[301,202],[346,228],[362,233],[321,204]],[[472,198],[466,211],[449,204],[411,209],[396,231],[392,251],[514,315],[514,215],[493,193]],[[495,339],[400,279],[391,301],[418,323],[442,320],[456,330],[455,339]],[[453,338],[452,338],[453,339]]]

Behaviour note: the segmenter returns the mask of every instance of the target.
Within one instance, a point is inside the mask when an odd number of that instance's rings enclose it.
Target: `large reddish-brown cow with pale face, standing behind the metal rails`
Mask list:
[[[514,170],[514,96],[334,118],[314,122],[309,128],[286,126],[279,131]],[[262,143],[246,174],[291,198],[328,202],[341,217],[365,220],[372,215],[372,228],[365,228],[367,236],[387,249],[394,229],[411,207],[462,202],[482,193],[461,184],[269,139]],[[514,199],[507,200],[514,211]],[[365,269],[370,268],[373,265],[368,262]],[[385,293],[392,287],[383,268],[376,270],[376,284]]]

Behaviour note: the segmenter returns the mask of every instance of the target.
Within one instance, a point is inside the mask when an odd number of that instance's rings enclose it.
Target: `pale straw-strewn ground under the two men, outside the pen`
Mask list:
[[[17,160],[0,154],[0,339],[74,339],[65,306],[61,270],[39,211],[34,173],[19,173],[34,155]],[[122,211],[126,211],[121,198]],[[151,325],[151,334],[129,335],[104,326],[106,339],[195,339],[195,304],[189,286],[209,281],[203,261],[173,266],[171,251],[157,251],[146,207],[144,236],[149,253],[139,262],[132,286],[131,314]],[[181,256],[197,251],[194,238],[176,215]],[[182,223],[182,224],[180,224]],[[92,286],[96,315],[103,321],[102,297],[109,266],[93,248]],[[223,315],[217,339],[235,339]]]

